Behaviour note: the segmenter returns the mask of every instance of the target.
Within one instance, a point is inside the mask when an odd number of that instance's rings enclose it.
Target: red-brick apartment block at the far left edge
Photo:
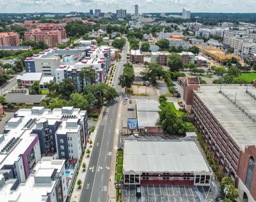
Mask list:
[[[17,32],[0,32],[0,46],[19,46],[20,36]]]

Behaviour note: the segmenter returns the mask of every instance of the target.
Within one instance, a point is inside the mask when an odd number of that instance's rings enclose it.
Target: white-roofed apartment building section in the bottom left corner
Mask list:
[[[68,184],[66,181],[65,160],[43,157],[26,182],[6,179],[0,174],[1,201],[66,201]]]

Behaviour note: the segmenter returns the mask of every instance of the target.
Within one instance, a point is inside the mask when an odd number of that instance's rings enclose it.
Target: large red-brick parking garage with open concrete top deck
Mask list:
[[[222,171],[235,180],[240,201],[256,200],[256,88],[202,86],[193,95],[196,126]]]

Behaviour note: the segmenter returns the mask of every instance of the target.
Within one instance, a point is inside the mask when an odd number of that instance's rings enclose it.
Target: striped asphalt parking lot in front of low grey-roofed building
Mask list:
[[[127,202],[204,202],[214,201],[219,195],[215,185],[211,187],[188,187],[183,185],[148,185],[141,187],[141,196],[136,196],[134,185],[123,188],[122,201]]]

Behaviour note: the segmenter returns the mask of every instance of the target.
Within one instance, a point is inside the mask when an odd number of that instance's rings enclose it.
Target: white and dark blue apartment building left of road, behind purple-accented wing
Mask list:
[[[20,109],[14,117],[22,121],[17,129],[22,131],[25,125],[30,133],[38,135],[41,153],[55,153],[59,159],[79,159],[89,138],[87,111],[78,108],[62,107],[51,111],[33,107]]]

